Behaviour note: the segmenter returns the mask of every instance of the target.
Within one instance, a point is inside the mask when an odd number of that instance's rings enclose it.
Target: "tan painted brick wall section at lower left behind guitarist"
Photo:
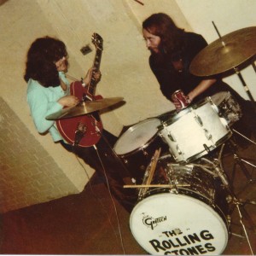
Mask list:
[[[79,193],[0,97],[0,212]]]

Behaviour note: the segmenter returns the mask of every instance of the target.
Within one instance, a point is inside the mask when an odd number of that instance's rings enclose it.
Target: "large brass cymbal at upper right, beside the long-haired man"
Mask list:
[[[256,54],[256,26],[230,32],[207,45],[190,64],[190,73],[202,77],[224,73]]]

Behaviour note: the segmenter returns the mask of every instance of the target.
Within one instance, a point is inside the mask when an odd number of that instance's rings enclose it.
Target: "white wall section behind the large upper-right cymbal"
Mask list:
[[[192,29],[201,33],[208,44],[218,39],[218,33],[212,26],[212,21],[218,27],[218,32],[222,37],[241,28],[256,25],[255,12],[253,11],[256,9],[256,1],[254,0],[177,0],[177,5],[183,10],[183,15],[185,15]],[[239,44],[239,42],[236,43]],[[234,55],[234,58],[236,58],[236,55]],[[253,66],[241,69],[241,75],[255,100],[256,76]],[[224,78],[224,81],[230,84],[245,99],[248,99],[241,80],[235,72],[233,75]]]

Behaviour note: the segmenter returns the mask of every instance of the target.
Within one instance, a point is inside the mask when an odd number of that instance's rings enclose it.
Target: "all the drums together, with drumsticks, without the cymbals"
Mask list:
[[[240,116],[240,108],[230,102],[228,92],[214,100],[218,106],[207,97],[170,113],[166,121],[143,120],[114,145],[128,169],[137,165],[137,177],[143,173],[143,180],[138,180],[142,184],[126,187],[138,189],[131,233],[148,253],[220,254],[226,247],[230,217],[227,192],[219,178],[223,173],[216,171],[215,162],[202,156],[230,139],[228,124],[236,122],[233,117]],[[164,147],[160,155],[164,145],[167,150]],[[141,160],[143,166],[148,160],[146,169],[140,169]]]

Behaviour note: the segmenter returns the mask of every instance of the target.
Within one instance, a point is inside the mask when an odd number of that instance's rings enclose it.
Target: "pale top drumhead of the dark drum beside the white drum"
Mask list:
[[[137,125],[131,126],[114,144],[113,149],[116,154],[127,154],[147,146],[147,143],[158,132],[157,126],[160,119],[146,119]]]

